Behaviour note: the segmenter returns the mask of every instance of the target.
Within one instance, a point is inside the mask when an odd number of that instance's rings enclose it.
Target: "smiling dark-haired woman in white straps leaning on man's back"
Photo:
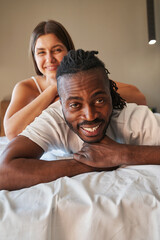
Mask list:
[[[16,137],[45,108],[58,100],[56,71],[67,52],[75,49],[67,30],[53,20],[41,22],[35,27],[30,46],[37,76],[20,81],[13,89],[4,117],[8,139]],[[146,104],[144,95],[135,86],[116,84],[121,97],[127,102]]]

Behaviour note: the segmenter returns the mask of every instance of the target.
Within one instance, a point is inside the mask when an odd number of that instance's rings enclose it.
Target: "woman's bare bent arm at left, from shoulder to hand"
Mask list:
[[[21,133],[55,100],[56,96],[57,88],[54,85],[50,85],[39,95],[26,82],[16,84],[4,117],[4,129],[8,139]]]

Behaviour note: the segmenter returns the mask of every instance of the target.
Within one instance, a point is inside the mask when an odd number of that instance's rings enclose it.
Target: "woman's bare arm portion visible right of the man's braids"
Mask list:
[[[118,93],[128,103],[136,103],[138,105],[147,105],[147,101],[143,93],[134,85],[115,82],[118,87]]]

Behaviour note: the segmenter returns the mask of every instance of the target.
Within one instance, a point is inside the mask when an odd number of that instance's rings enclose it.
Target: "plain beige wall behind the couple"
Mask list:
[[[30,34],[40,21],[55,19],[76,48],[98,50],[110,77],[135,84],[160,112],[160,0],[155,10],[157,43],[149,46],[146,0],[0,0],[0,100],[34,74]]]

